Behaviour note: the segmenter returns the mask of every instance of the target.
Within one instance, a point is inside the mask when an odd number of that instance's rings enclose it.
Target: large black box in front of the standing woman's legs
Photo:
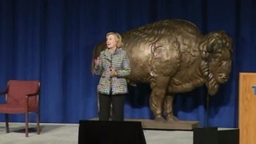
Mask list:
[[[80,120],[78,144],[146,144],[141,122]]]

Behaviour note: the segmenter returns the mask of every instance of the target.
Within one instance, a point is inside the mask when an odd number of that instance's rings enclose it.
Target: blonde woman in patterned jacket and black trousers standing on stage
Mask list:
[[[109,120],[112,103],[112,120],[124,121],[125,95],[131,66],[127,52],[122,50],[122,37],[118,33],[107,33],[108,49],[100,52],[94,60],[96,74],[101,75],[99,92],[99,120]]]

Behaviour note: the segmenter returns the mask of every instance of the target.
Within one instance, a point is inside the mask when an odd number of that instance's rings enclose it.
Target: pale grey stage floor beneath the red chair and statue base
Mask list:
[[[0,122],[1,144],[77,144],[79,124],[41,124],[41,134],[29,132],[26,138],[23,123],[10,123],[10,133],[5,132],[5,124]],[[29,124],[35,128],[35,124]],[[144,130],[147,144],[193,144],[192,131],[153,131]]]

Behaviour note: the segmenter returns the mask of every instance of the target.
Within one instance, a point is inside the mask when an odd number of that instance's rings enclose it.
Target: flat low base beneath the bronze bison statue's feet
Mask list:
[[[99,120],[99,118],[92,118],[91,120]],[[143,129],[152,129],[152,130],[193,130],[196,127],[200,126],[198,121],[173,121],[173,122],[156,122],[149,119],[133,119],[125,118],[124,121],[129,122],[141,122]]]

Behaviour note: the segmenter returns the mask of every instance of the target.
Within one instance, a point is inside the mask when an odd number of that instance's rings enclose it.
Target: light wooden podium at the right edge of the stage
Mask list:
[[[239,138],[240,144],[256,141],[256,73],[239,73]]]

